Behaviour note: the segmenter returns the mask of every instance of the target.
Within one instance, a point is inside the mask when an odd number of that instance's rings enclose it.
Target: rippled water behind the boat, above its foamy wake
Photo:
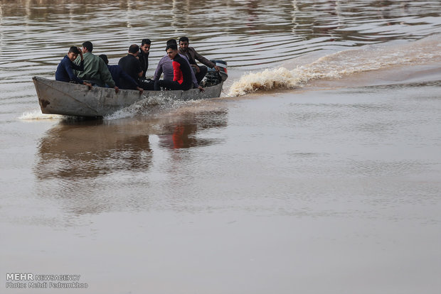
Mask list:
[[[0,85],[53,77],[70,45],[85,40],[112,64],[130,44],[150,38],[151,76],[165,41],[184,35],[201,54],[227,60],[238,77],[312,52],[424,38],[441,31],[440,12],[440,1],[410,0],[2,1]]]

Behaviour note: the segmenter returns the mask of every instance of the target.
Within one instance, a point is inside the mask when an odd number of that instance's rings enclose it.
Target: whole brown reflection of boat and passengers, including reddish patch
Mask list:
[[[182,112],[159,119],[61,121],[38,146],[38,179],[95,178],[119,171],[146,172],[154,150],[150,136],[167,150],[207,146],[217,138],[196,138],[204,129],[226,126],[226,109]]]

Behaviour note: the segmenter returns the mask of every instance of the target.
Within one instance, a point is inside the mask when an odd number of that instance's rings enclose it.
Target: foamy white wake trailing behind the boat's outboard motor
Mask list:
[[[251,72],[234,82],[228,95],[242,96],[260,90],[294,89],[304,87],[313,80],[336,80],[359,72],[440,62],[440,37],[440,34],[436,34],[411,43],[366,45],[323,56],[292,70],[279,67]]]

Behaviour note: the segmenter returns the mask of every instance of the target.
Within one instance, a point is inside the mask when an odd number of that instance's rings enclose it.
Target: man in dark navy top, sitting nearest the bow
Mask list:
[[[80,65],[75,65],[73,61],[78,58],[78,54],[81,56]],[[72,46],[69,49],[68,55],[60,61],[57,70],[55,71],[55,80],[61,82],[76,82],[81,85],[86,85],[89,89],[92,89],[92,85],[79,79],[73,72],[73,70],[84,70],[84,58],[83,53],[77,46]]]

